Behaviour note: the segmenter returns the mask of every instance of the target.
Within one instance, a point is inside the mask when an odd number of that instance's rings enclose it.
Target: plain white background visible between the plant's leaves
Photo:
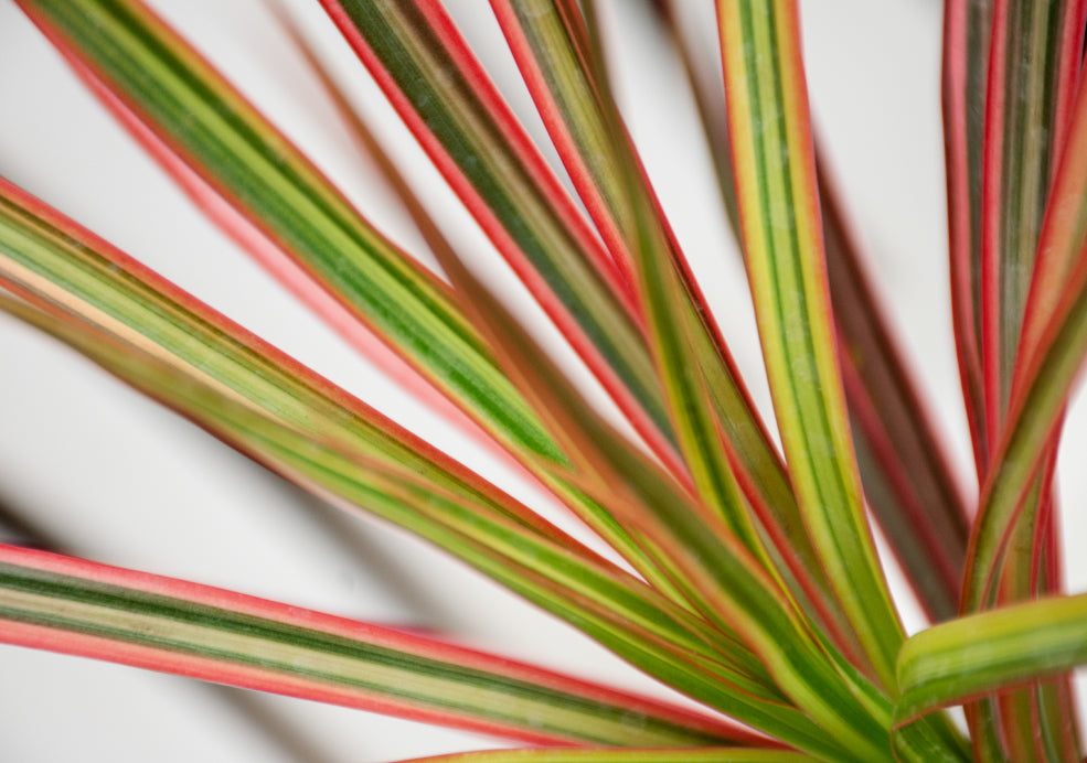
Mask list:
[[[248,0],[160,0],[157,8],[299,142],[365,214],[408,249],[417,238],[351,149],[334,111],[263,10]],[[319,12],[298,17],[352,94],[394,132],[361,67]],[[316,3],[313,3],[316,4]],[[455,12],[522,114],[525,96],[483,0]],[[620,4],[629,7],[622,0]],[[703,3],[708,6],[712,3]],[[292,6],[294,8],[294,6]],[[802,3],[816,122],[846,189],[878,288],[944,426],[956,468],[969,443],[950,340],[942,143],[941,3]],[[756,397],[765,405],[749,304],[675,62],[644,25],[614,19],[636,139]],[[537,123],[524,117],[533,135]],[[402,147],[413,179],[452,206]],[[13,3],[0,0],[0,174],[110,239],[347,389],[465,456],[516,495],[458,434],[413,407],[206,223],[105,115]],[[445,195],[443,195],[445,194]],[[463,219],[450,229],[487,245]],[[523,308],[508,273],[486,266]],[[541,330],[544,335],[546,332]],[[625,686],[640,676],[479,576],[376,523],[345,520],[73,353],[0,315],[0,502],[76,552],[379,622],[447,630],[467,643]],[[1075,412],[1074,412],[1074,416]],[[1076,416],[1076,418],[1083,418]],[[1068,453],[1083,453],[1075,420]],[[1069,538],[1087,534],[1081,470],[1062,471]],[[312,517],[318,517],[315,522]],[[1069,546],[1075,544],[1069,541]],[[1074,549],[1073,549],[1074,550]],[[1072,555],[1069,555],[1072,556]],[[1070,585],[1084,590],[1083,568]],[[912,612],[908,600],[904,600]],[[913,614],[912,627],[917,627]],[[129,668],[0,647],[0,755],[17,762],[384,761],[488,742],[340,708],[219,691]],[[269,739],[262,727],[283,739]],[[292,746],[294,745],[294,746]],[[294,750],[294,752],[291,752]]]

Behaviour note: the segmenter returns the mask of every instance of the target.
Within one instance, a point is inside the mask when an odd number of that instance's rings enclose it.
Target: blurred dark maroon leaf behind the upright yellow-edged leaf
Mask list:
[[[708,66],[704,60],[710,58],[710,45],[697,44],[690,30],[681,28],[674,4],[675,0],[662,0],[653,8],[683,62],[728,219],[739,236],[727,117],[720,97],[720,51],[712,51],[714,63]],[[866,275],[864,252],[850,235],[844,200],[819,159],[818,135],[816,147],[831,303],[839,346],[844,348],[840,359],[845,399],[865,498],[923,606],[934,620],[948,620],[958,610],[969,538],[965,498],[925,408],[924,390],[908,372],[908,358]],[[790,544],[800,540],[790,537]],[[814,551],[804,546],[810,548],[807,536],[798,556],[814,560]]]

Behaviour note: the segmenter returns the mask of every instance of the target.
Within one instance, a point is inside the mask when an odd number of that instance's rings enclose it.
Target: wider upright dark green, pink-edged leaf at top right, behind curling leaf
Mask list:
[[[1076,0],[998,0],[993,6],[981,252],[982,362],[987,429],[993,438],[1003,426],[1042,216],[1075,95],[1083,9]],[[1033,540],[1049,492],[1048,483],[1036,481],[1015,519],[1014,538],[1000,572],[1001,603],[1038,593],[1032,585],[1036,569]],[[1049,544],[1041,548],[1056,552]],[[1043,741],[1043,730],[1074,723],[1074,709],[1065,707],[1064,718],[1040,724],[1038,691],[1053,695],[1046,707],[1062,709],[1053,685],[1000,700],[1000,738],[1013,760],[1041,760],[1036,753],[1061,746],[1057,740]],[[972,726],[979,722],[974,719]]]

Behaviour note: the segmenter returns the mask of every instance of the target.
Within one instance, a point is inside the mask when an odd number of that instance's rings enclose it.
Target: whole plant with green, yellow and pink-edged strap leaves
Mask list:
[[[701,710],[19,547],[0,548],[0,641],[527,745],[444,760],[1081,759],[1068,670],[1087,662],[1087,595],[1062,592],[1053,472],[1087,353],[1087,3],[945,8],[970,506],[817,166],[791,0],[718,0],[720,61],[680,33],[680,3],[653,4],[742,244],[780,449],[625,128],[593,2],[490,3],[577,201],[437,0],[321,6],[610,395],[621,431],[443,237],[297,32],[444,277],[138,0],[17,2],[216,223],[615,555],[7,181],[0,307],[307,491],[425,538]],[[935,623],[909,638],[870,516]],[[965,726],[945,710],[958,705]]]

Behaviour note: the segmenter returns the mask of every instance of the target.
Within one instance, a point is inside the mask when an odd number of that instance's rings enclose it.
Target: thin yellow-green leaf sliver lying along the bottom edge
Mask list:
[[[402,763],[807,763],[818,759],[784,750],[488,750]]]

